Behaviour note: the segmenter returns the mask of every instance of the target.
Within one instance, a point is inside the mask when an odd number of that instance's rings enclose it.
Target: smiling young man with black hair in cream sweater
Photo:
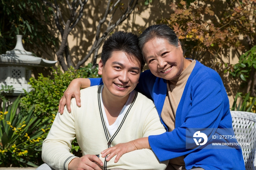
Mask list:
[[[133,90],[143,66],[136,35],[119,31],[110,36],[99,62],[103,85],[82,89],[82,106],[72,99],[71,113],[65,108],[63,115],[57,114],[43,142],[43,161],[61,170],[164,170],[167,162],[159,162],[150,149],[124,154],[117,163],[114,158],[105,161],[100,154],[118,143],[165,132],[153,102]],[[81,158],[70,153],[75,137]]]

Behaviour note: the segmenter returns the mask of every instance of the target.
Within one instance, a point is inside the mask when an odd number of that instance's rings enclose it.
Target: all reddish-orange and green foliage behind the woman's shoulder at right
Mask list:
[[[256,96],[255,16],[255,0],[179,0],[170,5],[170,17],[160,22],[176,32],[185,57],[224,75],[223,82],[235,98],[234,81]],[[240,61],[232,65],[235,55],[241,56]]]

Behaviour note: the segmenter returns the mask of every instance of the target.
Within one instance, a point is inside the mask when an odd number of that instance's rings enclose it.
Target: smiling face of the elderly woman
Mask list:
[[[149,40],[142,52],[152,74],[166,80],[178,76],[191,63],[183,57],[181,45],[170,45],[164,38]]]

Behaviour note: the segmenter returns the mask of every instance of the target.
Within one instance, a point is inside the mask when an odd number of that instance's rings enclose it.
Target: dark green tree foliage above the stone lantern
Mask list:
[[[0,0],[0,16],[0,54],[14,49],[16,35],[23,35],[26,44],[58,45],[59,40],[50,34],[45,24],[50,21],[50,11],[42,1]]]

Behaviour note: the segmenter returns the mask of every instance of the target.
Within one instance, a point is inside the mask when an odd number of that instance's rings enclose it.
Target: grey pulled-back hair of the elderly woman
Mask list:
[[[165,24],[161,25],[153,25],[147,27],[146,30],[142,32],[139,36],[139,47],[140,50],[143,49],[144,45],[153,38],[164,38],[166,39],[170,45],[178,47],[179,39],[175,32],[169,26]]]

